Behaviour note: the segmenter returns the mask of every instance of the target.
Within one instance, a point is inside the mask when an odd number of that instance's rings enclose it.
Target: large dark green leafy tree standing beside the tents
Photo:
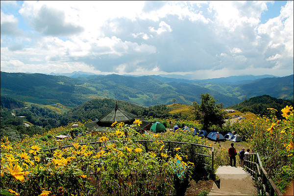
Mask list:
[[[222,109],[222,104],[217,104],[218,99],[214,99],[211,95],[201,93],[201,104],[196,101],[191,107],[191,117],[194,120],[199,120],[203,125],[203,129],[208,129],[211,125],[219,125],[224,123],[225,112]]]

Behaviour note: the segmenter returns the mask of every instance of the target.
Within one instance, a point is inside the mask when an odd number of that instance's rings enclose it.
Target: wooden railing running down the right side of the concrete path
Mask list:
[[[253,179],[258,184],[261,196],[283,196],[276,184],[269,178],[268,173],[262,166],[258,153],[250,153],[244,155],[244,166],[247,172],[250,172]]]

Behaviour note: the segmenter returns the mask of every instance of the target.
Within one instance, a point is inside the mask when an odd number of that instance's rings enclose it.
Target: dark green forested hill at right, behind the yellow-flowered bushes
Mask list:
[[[293,100],[285,100],[281,98],[273,98],[269,95],[263,95],[245,99],[241,103],[230,106],[231,109],[239,110],[241,112],[252,112],[254,114],[260,114],[261,116],[270,116],[268,108],[274,108],[277,110],[276,116],[281,117],[281,110],[286,106],[294,106]]]

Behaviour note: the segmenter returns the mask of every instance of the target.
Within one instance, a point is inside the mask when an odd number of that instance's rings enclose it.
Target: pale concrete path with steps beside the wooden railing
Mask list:
[[[241,167],[220,166],[216,174],[221,179],[220,189],[214,183],[209,196],[256,196],[257,189],[250,174]]]

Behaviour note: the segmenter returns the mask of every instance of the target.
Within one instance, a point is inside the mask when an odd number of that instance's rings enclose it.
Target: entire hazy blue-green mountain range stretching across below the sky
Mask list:
[[[93,98],[113,98],[151,106],[173,102],[199,103],[201,93],[209,93],[219,100],[218,103],[229,106],[254,96],[270,95],[275,98],[293,99],[294,94],[293,75],[171,80],[154,75],[134,77],[76,72],[68,77],[52,74],[1,72],[1,96],[40,104],[61,103],[72,107]]]

